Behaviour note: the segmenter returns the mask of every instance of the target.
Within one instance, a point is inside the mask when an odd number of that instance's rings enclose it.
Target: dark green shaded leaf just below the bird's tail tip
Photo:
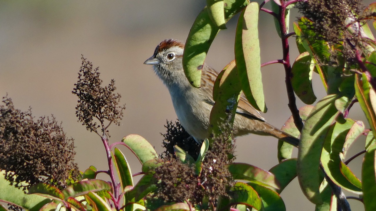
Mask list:
[[[279,182],[279,189],[274,191],[281,193],[296,177],[296,158],[290,158],[280,162],[276,166],[273,166],[269,172],[273,173]]]

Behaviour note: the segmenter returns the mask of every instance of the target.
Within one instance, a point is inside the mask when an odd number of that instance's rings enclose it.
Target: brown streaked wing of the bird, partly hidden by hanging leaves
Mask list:
[[[202,75],[201,75],[201,88],[205,92],[206,99],[205,101],[211,105],[214,105],[213,100],[213,87],[214,81],[217,78],[218,73],[211,67],[207,66],[204,63]],[[249,116],[250,118],[257,118],[261,121],[265,121],[265,119],[261,116],[260,112],[256,110],[246,99],[243,93],[240,95],[240,99],[238,102],[238,108],[236,113]]]

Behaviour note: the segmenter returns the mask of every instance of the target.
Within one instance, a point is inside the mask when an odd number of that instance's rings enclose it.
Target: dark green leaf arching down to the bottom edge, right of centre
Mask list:
[[[259,194],[260,199],[262,200],[262,205],[264,205],[264,211],[286,210],[285,203],[277,192],[252,182],[247,184]]]

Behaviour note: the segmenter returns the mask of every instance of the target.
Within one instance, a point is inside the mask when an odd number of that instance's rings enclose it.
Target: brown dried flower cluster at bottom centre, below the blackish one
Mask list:
[[[178,123],[171,125],[171,122],[168,123],[167,128],[181,127]],[[209,203],[214,204],[219,196],[229,197],[229,189],[234,181],[227,164],[234,160],[234,148],[231,144],[231,131],[227,129],[229,126],[225,125],[223,128],[224,133],[214,139],[211,149],[205,154],[200,175],[196,175],[195,167],[191,164],[181,163],[170,153],[164,164],[155,169],[157,190],[150,197],[165,202],[189,200],[197,205],[202,205],[204,197],[208,198]]]

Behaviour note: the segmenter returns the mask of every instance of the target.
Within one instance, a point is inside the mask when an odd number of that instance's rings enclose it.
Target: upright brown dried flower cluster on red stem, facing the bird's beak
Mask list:
[[[104,135],[108,133],[107,128],[112,122],[120,125],[119,120],[123,117],[125,104],[119,106],[121,95],[113,93],[116,90],[115,81],[112,79],[108,86],[102,87],[99,68],[93,69],[90,61],[83,56],[81,59],[82,66],[78,74],[78,81],[74,84],[76,88],[72,91],[79,98],[76,115],[79,118],[78,121],[82,122],[87,130],[102,136],[99,134],[98,128],[102,128]],[[94,118],[99,121],[100,125]],[[105,125],[105,121],[108,121],[107,125]]]

